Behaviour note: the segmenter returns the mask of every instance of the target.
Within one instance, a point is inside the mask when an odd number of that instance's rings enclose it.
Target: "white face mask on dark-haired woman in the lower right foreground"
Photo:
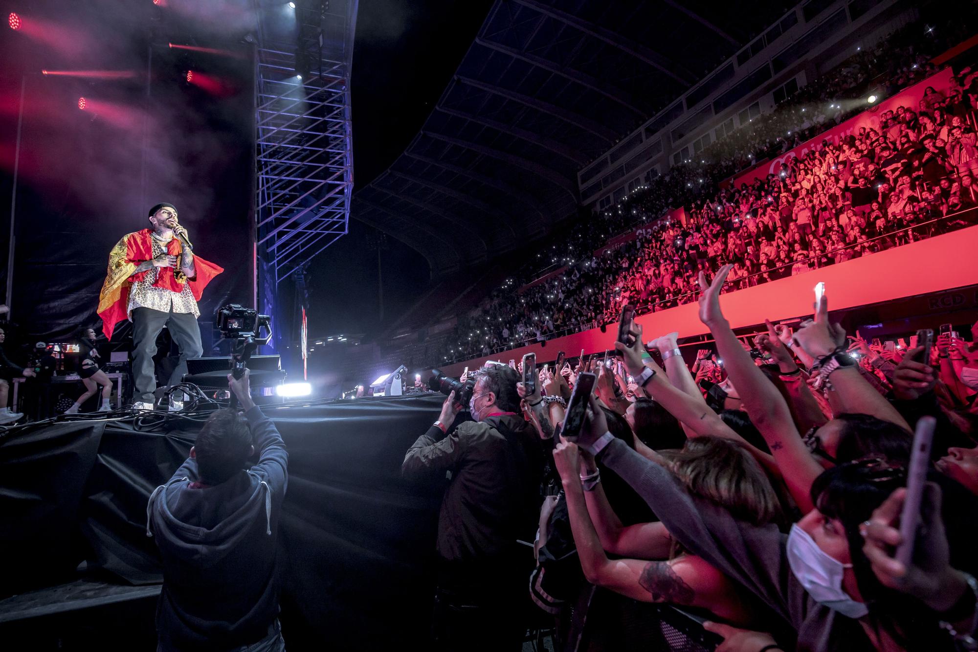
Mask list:
[[[842,590],[842,576],[852,564],[843,564],[829,556],[797,525],[791,526],[787,555],[791,572],[816,602],[848,618],[863,618],[869,613],[865,604]]]

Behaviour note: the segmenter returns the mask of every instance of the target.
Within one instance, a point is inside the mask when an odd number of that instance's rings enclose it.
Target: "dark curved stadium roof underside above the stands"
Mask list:
[[[543,235],[576,173],[783,11],[773,2],[497,0],[420,133],[351,216],[432,275]]]

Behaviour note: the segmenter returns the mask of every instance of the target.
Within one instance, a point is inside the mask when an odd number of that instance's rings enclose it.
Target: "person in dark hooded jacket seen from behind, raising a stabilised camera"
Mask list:
[[[285,650],[276,548],[289,454],[251,400],[247,371],[228,381],[244,415],[214,412],[147,507],[146,534],[156,537],[163,560],[161,652]],[[258,463],[245,471],[255,449]]]

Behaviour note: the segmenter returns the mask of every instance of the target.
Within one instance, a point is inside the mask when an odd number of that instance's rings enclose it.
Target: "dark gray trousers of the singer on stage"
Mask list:
[[[163,330],[180,347],[180,362],[170,375],[167,385],[176,385],[187,373],[187,360],[203,355],[200,346],[200,325],[193,313],[162,312],[148,307],[132,311],[132,376],[133,400],[153,402],[156,390],[156,373],[153,356],[156,354],[156,337]]]

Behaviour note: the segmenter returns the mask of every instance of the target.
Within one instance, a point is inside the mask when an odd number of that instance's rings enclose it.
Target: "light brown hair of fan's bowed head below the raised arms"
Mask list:
[[[742,443],[720,437],[695,437],[682,450],[659,453],[670,462],[669,470],[690,493],[754,525],[781,520],[778,493]]]

